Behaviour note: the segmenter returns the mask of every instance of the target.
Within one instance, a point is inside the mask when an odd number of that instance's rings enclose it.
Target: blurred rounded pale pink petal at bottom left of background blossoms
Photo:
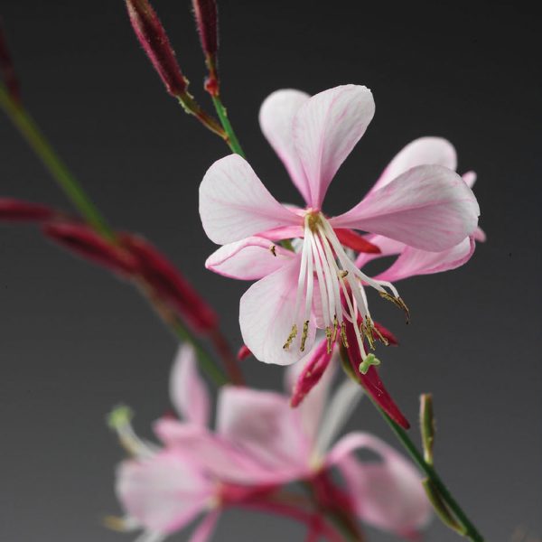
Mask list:
[[[214,487],[182,454],[164,452],[121,463],[116,491],[126,512],[143,527],[171,533],[207,506]]]

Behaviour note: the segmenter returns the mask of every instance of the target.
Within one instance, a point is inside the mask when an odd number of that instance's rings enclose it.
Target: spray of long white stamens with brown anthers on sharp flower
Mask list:
[[[370,285],[378,290],[382,297],[403,308],[407,314],[406,304],[399,297],[395,286],[385,281],[374,280],[362,273],[342,247],[322,212],[307,210],[304,215],[304,240],[295,298],[294,324],[283,348],[288,350],[301,332],[300,350],[304,351],[313,313],[314,295],[320,300],[328,353],[331,353],[332,344],[337,340],[340,340],[345,348],[350,347],[346,337],[346,322],[353,324],[363,360],[368,357],[363,339],[367,340],[371,350],[374,350],[377,340],[388,344],[370,317],[364,285]],[[374,364],[372,358],[369,360],[369,364]]]

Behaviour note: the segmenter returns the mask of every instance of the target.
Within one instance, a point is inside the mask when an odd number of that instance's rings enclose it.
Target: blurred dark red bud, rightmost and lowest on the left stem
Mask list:
[[[197,332],[216,329],[218,316],[173,264],[144,238],[122,234],[123,247],[136,258],[139,273]]]

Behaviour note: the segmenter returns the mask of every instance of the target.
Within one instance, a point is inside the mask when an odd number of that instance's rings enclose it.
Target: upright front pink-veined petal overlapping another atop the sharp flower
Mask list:
[[[316,94],[294,117],[294,145],[304,167],[314,209],[332,178],[360,141],[375,112],[366,87],[343,85]]]

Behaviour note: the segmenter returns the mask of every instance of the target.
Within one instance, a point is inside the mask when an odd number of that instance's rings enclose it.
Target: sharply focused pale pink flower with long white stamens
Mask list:
[[[206,265],[227,276],[259,279],[239,308],[243,340],[258,360],[281,365],[299,360],[313,345],[316,327],[325,330],[328,350],[334,341],[346,346],[346,323],[358,322],[359,315],[366,323],[363,329],[354,326],[356,347],[365,360],[363,339],[372,335],[373,321],[364,286],[406,308],[395,286],[360,271],[341,244],[339,231],[360,229],[441,252],[477,227],[479,208],[472,191],[443,165],[407,169],[338,217],[322,212],[334,174],[373,113],[369,89],[356,85],[312,98],[297,90],[279,90],[266,99],[260,124],[304,197],[303,210],[276,201],[237,155],[213,164],[201,182],[203,228],[211,240],[225,245]],[[299,251],[271,242],[285,238],[302,239]]]

